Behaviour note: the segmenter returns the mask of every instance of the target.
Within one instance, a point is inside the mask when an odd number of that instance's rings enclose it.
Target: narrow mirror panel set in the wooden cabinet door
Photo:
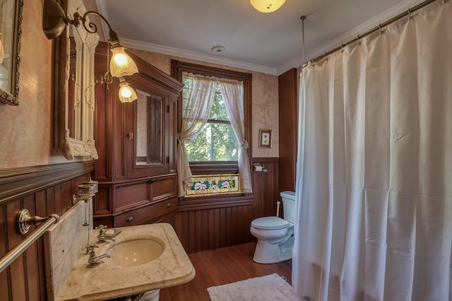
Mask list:
[[[162,163],[163,99],[136,89],[136,165]]]

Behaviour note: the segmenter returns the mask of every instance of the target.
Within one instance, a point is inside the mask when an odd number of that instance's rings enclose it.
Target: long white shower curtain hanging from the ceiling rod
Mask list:
[[[452,1],[302,70],[292,285],[451,300]]]

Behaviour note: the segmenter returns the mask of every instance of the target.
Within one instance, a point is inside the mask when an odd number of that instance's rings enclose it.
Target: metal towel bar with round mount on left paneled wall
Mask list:
[[[37,228],[34,232],[30,234],[25,240],[20,242],[14,249],[11,249],[8,254],[6,254],[2,259],[0,259],[0,273],[4,271],[20,254],[25,252],[31,244],[33,244],[38,238],[40,238],[44,232],[54,223],[59,222],[59,215],[51,214],[46,218],[41,218],[39,216],[30,216],[30,212],[27,209],[22,209],[18,213],[17,217],[17,228],[22,234],[25,234],[30,229],[30,223],[40,224],[43,223],[40,228]]]

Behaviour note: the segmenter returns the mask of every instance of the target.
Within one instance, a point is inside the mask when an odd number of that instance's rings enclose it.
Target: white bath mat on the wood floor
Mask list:
[[[294,288],[277,273],[225,285],[212,286],[207,291],[212,301],[302,300],[301,297],[295,294]]]

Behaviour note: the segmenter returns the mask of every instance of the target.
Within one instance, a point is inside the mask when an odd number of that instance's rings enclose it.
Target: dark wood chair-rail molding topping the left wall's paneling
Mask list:
[[[0,170],[0,205],[93,172],[93,161]]]

